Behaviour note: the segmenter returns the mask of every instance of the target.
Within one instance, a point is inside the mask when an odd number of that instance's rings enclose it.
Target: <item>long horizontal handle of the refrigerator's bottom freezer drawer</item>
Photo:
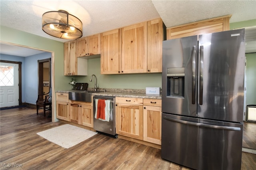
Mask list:
[[[163,119],[166,119],[166,120],[172,121],[172,122],[186,124],[186,125],[198,126],[198,127],[217,128],[217,129],[234,130],[234,131],[240,131],[241,130],[240,127],[227,127],[227,126],[219,126],[219,125],[208,125],[208,124],[204,124],[204,123],[182,121],[182,120],[179,120],[179,119],[173,119],[173,118],[169,118],[169,117],[166,117],[166,116],[163,117]]]

